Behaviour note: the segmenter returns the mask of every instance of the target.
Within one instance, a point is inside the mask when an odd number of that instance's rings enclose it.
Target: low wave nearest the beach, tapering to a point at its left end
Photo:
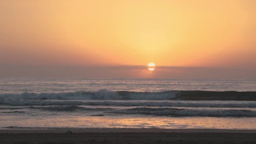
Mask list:
[[[184,108],[131,108],[114,111],[117,114],[146,114],[154,116],[210,116],[210,117],[256,117],[252,110],[198,110]]]

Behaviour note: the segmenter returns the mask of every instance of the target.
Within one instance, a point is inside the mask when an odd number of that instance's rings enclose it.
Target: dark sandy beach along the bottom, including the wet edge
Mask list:
[[[72,133],[66,133],[67,131]],[[256,130],[2,129],[1,144],[255,144]]]

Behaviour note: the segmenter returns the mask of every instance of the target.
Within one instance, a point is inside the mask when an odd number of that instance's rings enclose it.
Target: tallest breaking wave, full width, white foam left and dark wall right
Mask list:
[[[243,100],[256,101],[256,92],[214,92],[214,91],[164,91],[164,92],[130,92],[110,91],[96,92],[61,92],[0,94],[0,98],[30,100]],[[1,100],[2,101],[2,100]]]

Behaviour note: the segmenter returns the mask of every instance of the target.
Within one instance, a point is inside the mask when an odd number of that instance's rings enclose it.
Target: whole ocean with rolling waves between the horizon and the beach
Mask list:
[[[256,129],[256,81],[0,78],[0,128]]]

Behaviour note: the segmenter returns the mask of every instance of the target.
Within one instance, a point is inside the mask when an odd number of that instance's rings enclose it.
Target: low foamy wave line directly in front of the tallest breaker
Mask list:
[[[254,101],[182,101],[182,100],[141,100],[141,101],[120,101],[120,100],[98,100],[98,101],[77,101],[77,100],[21,100],[21,99],[0,99],[0,104],[10,106],[51,106],[51,105],[88,105],[88,106],[169,106],[169,107],[216,107],[216,108],[256,108]],[[23,107],[0,107],[0,109],[22,109]]]

